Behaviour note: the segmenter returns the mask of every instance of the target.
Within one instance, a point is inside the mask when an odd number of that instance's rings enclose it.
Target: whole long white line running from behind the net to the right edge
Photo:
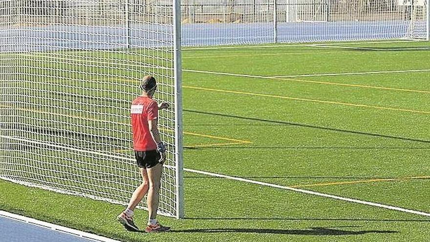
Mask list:
[[[9,138],[9,139],[15,139],[15,140],[24,141],[24,142],[38,143],[38,144],[43,144],[43,145],[46,145],[46,146],[52,146],[52,147],[56,147],[56,148],[66,149],[66,150],[79,151],[79,152],[87,152],[87,153],[90,153],[90,154],[100,154],[100,155],[105,155],[106,157],[124,159],[124,160],[129,160],[129,161],[134,162],[134,160],[132,158],[127,158],[127,157],[114,156],[114,155],[103,154],[103,153],[98,153],[98,152],[90,152],[90,151],[79,150],[79,149],[70,148],[70,147],[62,147],[62,146],[59,146],[59,145],[54,145],[54,144],[49,144],[49,143],[43,143],[43,142],[38,142],[38,141],[33,141],[33,140],[27,140],[27,139],[12,137],[12,136],[0,135],[0,137],[2,137],[2,138]],[[172,168],[171,166],[167,166],[167,167]],[[287,187],[287,186],[280,186],[280,185],[277,185],[277,184],[272,184],[272,183],[267,183],[267,182],[261,182],[261,181],[256,181],[256,180],[251,180],[251,179],[245,179],[245,178],[241,178],[241,177],[235,177],[235,176],[228,176],[228,175],[222,175],[222,174],[217,174],[217,173],[199,171],[199,170],[194,170],[194,169],[184,168],[184,171],[186,171],[186,172],[192,172],[192,173],[197,173],[197,174],[202,174],[202,175],[206,175],[206,176],[215,176],[215,177],[220,177],[220,178],[225,178],[225,179],[230,179],[230,180],[237,180],[237,181],[242,181],[242,182],[257,184],[257,185],[261,185],[261,186],[268,186],[268,187],[273,187],[273,188],[279,188],[279,189],[284,189],[284,190],[289,190],[289,191],[293,191],[293,192],[304,193],[304,194],[309,194],[309,195],[314,195],[314,196],[319,196],[319,197],[324,197],[324,198],[332,198],[332,199],[337,199],[337,200],[342,200],[342,201],[354,202],[354,203],[365,204],[365,205],[369,205],[369,206],[373,206],[373,207],[380,207],[380,208],[385,208],[385,209],[390,209],[390,210],[396,210],[396,211],[400,211],[400,212],[404,212],[404,213],[410,213],[410,214],[416,214],[416,215],[422,215],[422,216],[430,217],[429,213],[425,213],[425,212],[421,212],[421,211],[415,211],[415,210],[401,208],[401,207],[389,206],[389,205],[375,203],[375,202],[363,201],[363,200],[358,200],[358,199],[353,199],[353,198],[344,198],[344,197],[339,197],[339,196],[330,195],[330,194],[318,193],[318,192],[313,192],[313,191],[304,190],[304,189],[298,189],[298,188]]]

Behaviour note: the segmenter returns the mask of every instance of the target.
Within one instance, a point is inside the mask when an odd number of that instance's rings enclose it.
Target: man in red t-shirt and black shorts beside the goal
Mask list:
[[[148,226],[145,232],[167,232],[170,227],[158,223],[158,193],[160,189],[161,173],[165,160],[166,146],[161,142],[157,128],[158,110],[169,108],[168,103],[157,102],[152,99],[157,84],[152,76],[145,76],[140,85],[142,95],[131,104],[131,126],[133,130],[133,148],[137,165],[140,168],[143,182],[131,196],[129,205],[118,215],[117,220],[129,231],[139,231],[133,222],[133,210],[148,193]]]

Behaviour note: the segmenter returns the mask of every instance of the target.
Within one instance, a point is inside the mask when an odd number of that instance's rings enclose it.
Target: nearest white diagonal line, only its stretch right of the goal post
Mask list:
[[[358,199],[353,199],[353,198],[344,198],[344,197],[339,197],[339,196],[325,194],[325,193],[318,193],[318,192],[313,192],[313,191],[309,191],[309,190],[297,189],[297,188],[287,187],[287,186],[280,186],[277,184],[272,184],[272,183],[267,183],[267,182],[250,180],[250,179],[245,179],[245,178],[236,177],[236,176],[227,176],[227,175],[211,173],[211,172],[198,171],[198,170],[193,170],[193,169],[185,169],[185,171],[193,172],[193,173],[197,173],[197,174],[202,174],[202,175],[206,175],[206,176],[215,176],[215,177],[220,177],[220,178],[225,178],[225,179],[230,179],[230,180],[237,180],[237,181],[257,184],[257,185],[261,185],[261,186],[279,188],[279,189],[284,189],[284,190],[289,190],[289,191],[294,191],[294,192],[298,192],[298,193],[304,193],[304,194],[309,194],[309,195],[314,195],[314,196],[319,196],[319,197],[324,197],[324,198],[332,198],[332,199],[337,199],[337,200],[342,200],[342,201],[354,202],[354,203],[365,204],[365,205],[369,205],[369,206],[373,206],[373,207],[380,207],[380,208],[396,210],[396,211],[400,211],[400,212],[404,212],[404,213],[410,213],[410,214],[416,214],[416,215],[422,215],[422,216],[430,217],[429,213],[425,213],[425,212],[421,212],[421,211],[415,211],[415,210],[401,208],[401,207],[389,206],[389,205],[376,203],[376,202],[363,201],[363,200],[358,200]]]

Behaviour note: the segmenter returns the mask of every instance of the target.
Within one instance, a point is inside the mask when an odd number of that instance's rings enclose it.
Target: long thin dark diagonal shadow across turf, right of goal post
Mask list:
[[[205,112],[205,111],[197,111],[197,110],[184,110],[184,111],[186,111],[186,112],[192,112],[192,113],[199,113],[199,114],[213,115],[213,116],[221,116],[221,117],[230,117],[230,118],[245,119],[245,120],[252,120],[252,121],[260,121],[260,122],[266,122],[266,123],[272,123],[272,124],[284,124],[284,125],[291,125],[291,126],[298,126],[298,127],[304,127],[304,128],[326,130],[326,131],[361,134],[361,135],[367,135],[367,136],[373,136],[373,137],[382,137],[382,138],[398,139],[398,140],[405,140],[405,141],[415,141],[415,142],[427,143],[427,144],[430,143],[430,140],[415,139],[415,138],[406,138],[406,137],[398,137],[398,136],[379,134],[379,133],[360,132],[360,131],[351,131],[351,130],[341,130],[341,129],[335,129],[335,128],[322,127],[322,126],[314,126],[314,125],[307,125],[307,124],[291,123],[291,122],[278,121],[278,120],[270,120],[270,119],[262,119],[262,118],[243,117],[243,116],[230,115],[230,114],[224,114],[224,113]]]

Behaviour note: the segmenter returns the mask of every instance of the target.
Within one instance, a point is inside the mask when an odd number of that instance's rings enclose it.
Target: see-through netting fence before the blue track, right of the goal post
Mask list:
[[[427,1],[182,0],[182,44],[426,39]]]

